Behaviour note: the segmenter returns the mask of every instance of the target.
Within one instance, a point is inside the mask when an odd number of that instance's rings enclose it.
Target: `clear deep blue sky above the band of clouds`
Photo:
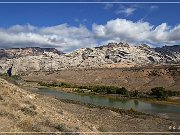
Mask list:
[[[116,13],[121,6],[136,10],[129,16]],[[151,9],[152,6],[157,8]],[[110,19],[138,21],[144,17],[144,21],[154,25],[163,22],[176,25],[180,20],[178,13],[180,4],[0,4],[0,25],[9,27],[30,23],[35,26],[51,26],[68,23],[77,26],[82,23],[91,28],[92,23],[105,24]]]

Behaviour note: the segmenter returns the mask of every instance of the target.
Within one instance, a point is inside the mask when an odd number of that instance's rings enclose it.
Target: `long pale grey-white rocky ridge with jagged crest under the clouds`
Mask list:
[[[8,69],[12,74],[32,71],[53,71],[77,68],[134,67],[145,65],[167,65],[180,63],[180,46],[150,48],[147,45],[109,43],[108,45],[82,48],[71,53],[59,55],[46,52],[41,55],[0,60],[0,72]]]

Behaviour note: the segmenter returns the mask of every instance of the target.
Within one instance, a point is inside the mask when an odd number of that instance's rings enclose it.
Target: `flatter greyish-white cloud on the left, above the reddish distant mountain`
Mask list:
[[[61,24],[51,27],[14,25],[0,29],[0,47],[56,47],[62,51],[71,51],[80,47],[95,46],[92,32],[84,26],[74,27]]]

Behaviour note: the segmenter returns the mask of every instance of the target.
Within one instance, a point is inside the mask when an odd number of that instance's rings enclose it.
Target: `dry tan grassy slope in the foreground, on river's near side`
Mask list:
[[[0,79],[0,132],[165,132],[179,123],[39,95]]]

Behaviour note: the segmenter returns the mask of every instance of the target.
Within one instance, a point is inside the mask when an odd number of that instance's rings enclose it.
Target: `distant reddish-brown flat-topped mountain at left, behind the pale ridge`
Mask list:
[[[45,54],[45,52],[52,52],[55,54],[63,54],[63,52],[58,51],[55,48],[40,48],[40,47],[26,47],[26,48],[11,48],[11,49],[1,49],[0,59],[2,58],[19,58],[25,56],[39,56]]]

